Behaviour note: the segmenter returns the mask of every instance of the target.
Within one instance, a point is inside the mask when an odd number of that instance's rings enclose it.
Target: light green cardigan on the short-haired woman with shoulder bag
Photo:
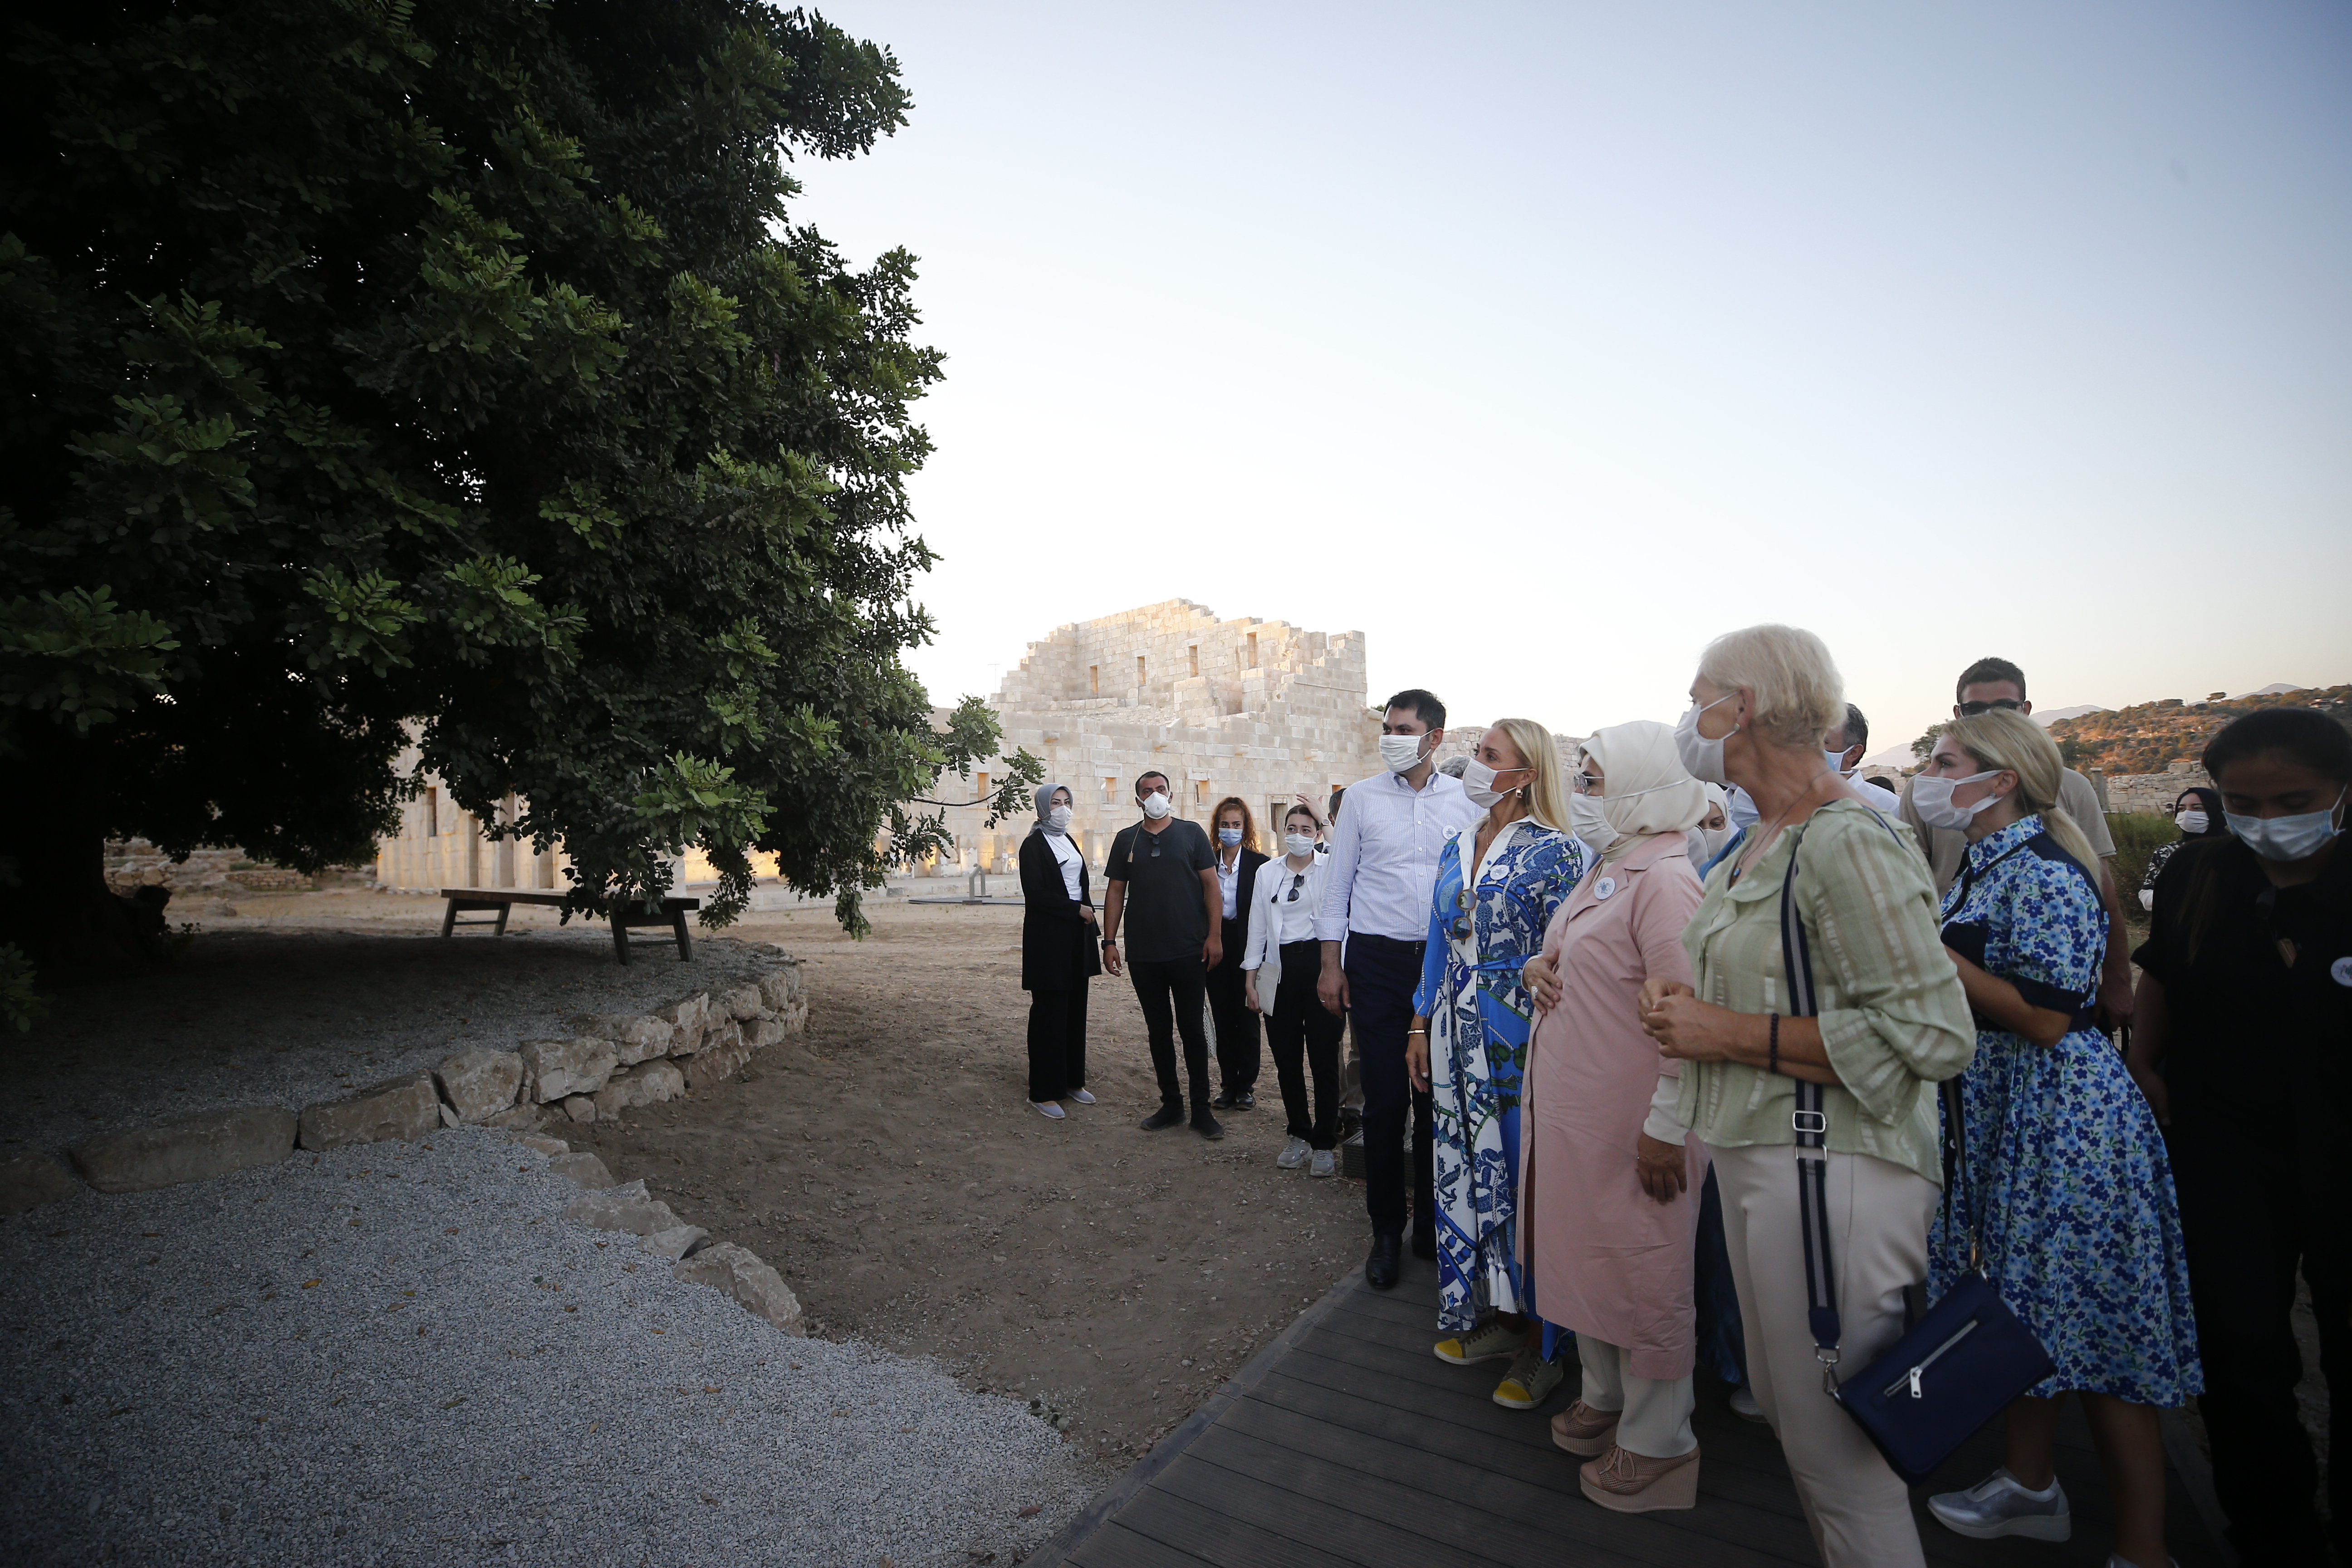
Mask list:
[[[1844,1084],[1823,1095],[1830,1150],[1875,1154],[1940,1187],[1936,1084],[1969,1065],[1976,1023],[1907,827],[1860,802],[1830,802],[1802,830],[1783,832],[1738,884],[1738,856],[1717,865],[1682,931],[1698,997],[1733,1013],[1788,1013],[1780,884],[1792,851],[1820,1039]],[[1712,1145],[1795,1145],[1795,1100],[1790,1077],[1684,1063],[1677,1107]]]

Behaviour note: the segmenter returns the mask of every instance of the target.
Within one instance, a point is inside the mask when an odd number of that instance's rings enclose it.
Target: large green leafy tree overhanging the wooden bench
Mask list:
[[[412,738],[579,910],[699,844],[708,919],[774,851],[858,929],[997,743],[901,663],[913,259],[788,216],[903,125],[889,52],[753,0],[0,28],[0,936],[132,954],[106,837],[367,858]]]

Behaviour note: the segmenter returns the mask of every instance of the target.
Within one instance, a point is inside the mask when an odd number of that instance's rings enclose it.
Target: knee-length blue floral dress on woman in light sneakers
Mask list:
[[[2051,1048],[1978,1027],[1959,1081],[1966,1168],[1950,1227],[1938,1208],[1929,1234],[1929,1291],[1966,1272],[1980,1215],[1985,1276],[2058,1363],[2034,1394],[2187,1401],[2204,1368],[2173,1168],[2122,1053],[2091,1027],[2107,952],[2098,884],[2039,816],[2018,818],[1969,844],[1943,940],[2074,1025]]]

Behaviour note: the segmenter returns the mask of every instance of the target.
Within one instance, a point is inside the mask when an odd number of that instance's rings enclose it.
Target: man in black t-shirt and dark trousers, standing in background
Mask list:
[[[1192,1131],[1223,1138],[1209,1112],[1209,971],[1223,957],[1218,919],[1225,896],[1216,886],[1216,851],[1195,823],[1174,816],[1167,773],[1136,778],[1143,820],[1120,830],[1103,865],[1103,966],[1127,973],[1143,1006],[1160,1074],[1160,1110],[1143,1131],[1176,1126],[1183,1088],[1176,1081],[1176,1032],[1183,1032],[1183,1065],[1192,1079]],[[1120,964],[1120,926],[1127,924],[1127,961]]]

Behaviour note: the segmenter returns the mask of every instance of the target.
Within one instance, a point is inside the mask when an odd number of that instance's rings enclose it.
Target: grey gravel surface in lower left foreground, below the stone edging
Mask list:
[[[0,1222],[0,1556],[1009,1563],[1091,1490],[1021,1406],[783,1335],[572,1197],[461,1128]]]

